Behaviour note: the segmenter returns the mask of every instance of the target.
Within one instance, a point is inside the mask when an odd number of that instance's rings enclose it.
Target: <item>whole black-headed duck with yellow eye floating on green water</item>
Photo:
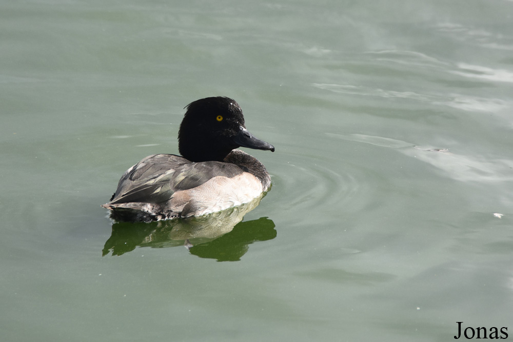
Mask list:
[[[181,155],[153,154],[121,176],[102,207],[121,222],[202,216],[250,203],[265,195],[271,178],[240,147],[274,152],[247,129],[238,103],[225,96],[186,107],[178,133]]]

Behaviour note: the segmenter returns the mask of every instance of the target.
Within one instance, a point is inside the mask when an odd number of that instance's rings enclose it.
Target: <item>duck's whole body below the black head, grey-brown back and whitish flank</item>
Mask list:
[[[257,159],[240,150],[226,162],[193,163],[173,154],[155,154],[128,169],[103,207],[121,220],[199,216],[248,203],[270,186]]]

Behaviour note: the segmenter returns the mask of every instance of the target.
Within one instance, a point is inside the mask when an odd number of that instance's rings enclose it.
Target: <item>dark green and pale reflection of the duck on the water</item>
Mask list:
[[[218,261],[236,261],[248,245],[276,237],[274,223],[267,217],[241,222],[257,207],[262,197],[240,207],[200,217],[152,223],[114,223],[103,255],[122,255],[139,247],[185,246],[191,254]],[[235,229],[234,229],[235,228]]]

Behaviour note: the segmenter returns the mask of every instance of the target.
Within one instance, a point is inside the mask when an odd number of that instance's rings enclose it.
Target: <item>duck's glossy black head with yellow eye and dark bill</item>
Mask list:
[[[274,152],[274,147],[246,130],[242,109],[228,97],[207,97],[189,104],[180,131],[180,154],[191,162],[223,159],[231,150],[248,147]]]

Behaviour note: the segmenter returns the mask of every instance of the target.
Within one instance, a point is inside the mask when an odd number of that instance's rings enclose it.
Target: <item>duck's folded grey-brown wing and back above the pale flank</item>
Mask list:
[[[163,203],[175,192],[198,187],[214,176],[233,177],[242,172],[229,163],[191,163],[173,154],[150,155],[123,174],[108,204]]]

